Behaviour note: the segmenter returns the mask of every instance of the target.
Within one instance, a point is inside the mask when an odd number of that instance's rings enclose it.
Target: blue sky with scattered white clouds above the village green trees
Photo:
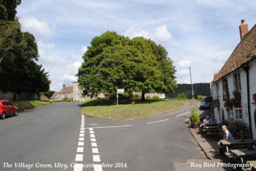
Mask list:
[[[239,25],[256,21],[256,1],[237,0],[22,0],[22,30],[37,41],[50,89],[72,86],[82,56],[106,31],[143,36],[164,46],[177,83],[210,83],[240,42]]]

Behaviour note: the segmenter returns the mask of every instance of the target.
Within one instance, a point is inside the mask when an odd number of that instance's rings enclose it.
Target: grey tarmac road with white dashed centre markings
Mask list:
[[[54,103],[0,120],[0,170],[175,170],[206,159],[184,123],[189,106],[132,121],[80,110]]]

